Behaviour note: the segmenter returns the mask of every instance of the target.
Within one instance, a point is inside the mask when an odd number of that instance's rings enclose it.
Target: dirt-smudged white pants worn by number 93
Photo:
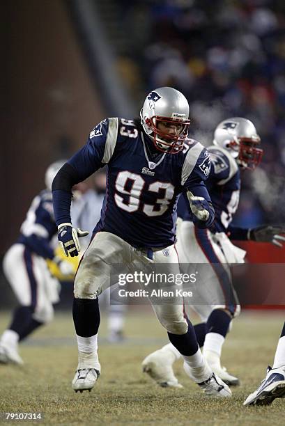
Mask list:
[[[115,268],[114,268],[115,265]],[[75,276],[75,298],[95,299],[107,287],[118,283],[116,266],[127,273],[144,271],[148,267],[154,271],[155,265],[164,274],[179,274],[178,255],[174,246],[163,249],[153,248],[153,260],[146,251],[135,249],[128,242],[110,232],[98,232],[88,246]],[[141,283],[142,284],[142,283]],[[141,285],[142,290],[148,287]],[[162,326],[169,333],[185,334],[187,322],[183,316],[183,298],[176,297],[175,283],[167,283],[169,296],[155,299],[153,309]],[[174,292],[174,296],[171,295]]]

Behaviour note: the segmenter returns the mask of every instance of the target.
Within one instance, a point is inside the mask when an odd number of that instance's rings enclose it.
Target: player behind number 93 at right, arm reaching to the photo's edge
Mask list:
[[[277,246],[282,246],[285,241],[285,237],[279,235],[285,230],[280,226],[254,229],[231,226],[240,196],[240,170],[254,169],[259,164],[263,153],[259,144],[259,135],[253,123],[246,118],[229,118],[215,129],[213,145],[208,147],[211,168],[206,181],[216,215],[210,230],[194,226],[183,197],[178,203],[183,219],[178,226],[176,243],[180,264],[190,267],[204,264],[198,268],[195,300],[191,304],[191,308],[201,318],[201,323],[194,329],[210,368],[231,386],[238,385],[239,380],[221,366],[220,359],[226,333],[231,320],[240,313],[240,305],[231,284],[228,265],[244,262],[245,251],[233,246],[229,237],[234,240],[271,242]],[[185,301],[186,312],[187,308],[189,304]],[[142,363],[143,370],[160,386],[179,387],[172,369],[172,364],[179,358],[179,352],[169,344],[148,355]]]

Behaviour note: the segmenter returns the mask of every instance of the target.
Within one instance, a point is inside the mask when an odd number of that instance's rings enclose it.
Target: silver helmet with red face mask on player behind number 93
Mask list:
[[[254,170],[261,162],[263,150],[257,148],[261,139],[247,118],[231,117],[219,123],[213,143],[228,150],[242,168]]]

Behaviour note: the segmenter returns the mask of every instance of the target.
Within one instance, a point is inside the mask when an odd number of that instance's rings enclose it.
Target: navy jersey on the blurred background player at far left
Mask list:
[[[42,191],[33,198],[20,232],[18,243],[24,244],[43,258],[54,258],[54,250],[50,243],[54,235],[57,235],[57,227],[50,191]]]

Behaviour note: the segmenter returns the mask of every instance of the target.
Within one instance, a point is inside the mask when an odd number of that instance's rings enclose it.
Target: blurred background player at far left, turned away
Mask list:
[[[3,271],[20,305],[0,338],[0,363],[22,364],[18,343],[52,320],[53,304],[59,301],[59,281],[52,277],[46,259],[58,265],[61,274],[74,274],[72,265],[54,254],[57,234],[52,208],[52,180],[64,161],[51,164],[45,173],[46,189],[33,199],[20,237],[3,258]]]

